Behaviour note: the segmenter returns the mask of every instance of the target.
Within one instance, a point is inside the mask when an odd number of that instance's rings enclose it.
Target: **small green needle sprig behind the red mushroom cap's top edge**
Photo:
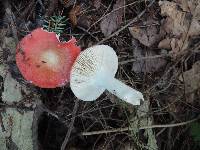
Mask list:
[[[65,16],[51,16],[48,20],[44,20],[43,28],[49,32],[55,32],[60,35],[63,33],[67,19]]]

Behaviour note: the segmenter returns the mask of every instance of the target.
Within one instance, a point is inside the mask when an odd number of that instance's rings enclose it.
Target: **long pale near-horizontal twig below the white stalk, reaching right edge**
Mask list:
[[[180,123],[174,123],[174,124],[163,124],[163,125],[151,125],[151,126],[143,126],[139,127],[139,130],[142,129],[153,129],[153,128],[172,128],[172,127],[177,127],[177,126],[184,126],[187,124],[190,124],[194,121],[197,121],[200,119],[200,115],[192,120],[185,121],[185,122],[180,122]],[[81,135],[97,135],[97,134],[107,134],[107,133],[113,133],[113,132],[124,132],[124,131],[131,131],[135,130],[134,128],[131,127],[125,127],[125,128],[117,128],[117,129],[110,129],[110,130],[101,130],[101,131],[92,131],[92,132],[82,132]]]

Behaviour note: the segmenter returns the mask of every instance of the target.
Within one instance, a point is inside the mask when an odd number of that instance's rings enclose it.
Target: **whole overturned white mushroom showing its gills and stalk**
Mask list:
[[[87,48],[72,66],[70,87],[81,100],[95,100],[107,89],[128,103],[140,105],[140,100],[144,100],[142,93],[114,78],[117,69],[118,58],[110,46]]]

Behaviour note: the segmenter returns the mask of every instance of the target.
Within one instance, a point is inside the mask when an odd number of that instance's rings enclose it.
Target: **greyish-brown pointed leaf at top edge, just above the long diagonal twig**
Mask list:
[[[122,7],[124,0],[117,0],[116,4],[113,6],[113,10]],[[105,37],[111,35],[122,23],[123,8],[111,12],[106,16],[100,23],[100,28]]]

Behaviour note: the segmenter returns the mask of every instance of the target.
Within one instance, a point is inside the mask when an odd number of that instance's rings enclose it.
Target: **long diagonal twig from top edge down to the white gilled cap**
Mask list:
[[[154,4],[155,0],[152,0],[150,2],[150,4],[147,6],[147,8],[151,7],[153,4]],[[104,38],[103,40],[99,41],[98,43],[96,43],[96,45],[98,44],[102,44],[103,42],[109,40],[110,38],[112,38],[113,36],[115,35],[118,35],[121,31],[123,31],[124,29],[126,29],[128,26],[130,26],[131,24],[135,23],[136,21],[138,21],[139,18],[141,18],[145,12],[146,12],[146,9],[144,9],[139,15],[137,15],[137,17],[135,17],[133,20],[131,20],[129,23],[127,23],[126,25],[124,25],[123,27],[121,27],[120,29],[118,29],[117,31],[115,31],[114,33],[112,33],[110,36]]]

